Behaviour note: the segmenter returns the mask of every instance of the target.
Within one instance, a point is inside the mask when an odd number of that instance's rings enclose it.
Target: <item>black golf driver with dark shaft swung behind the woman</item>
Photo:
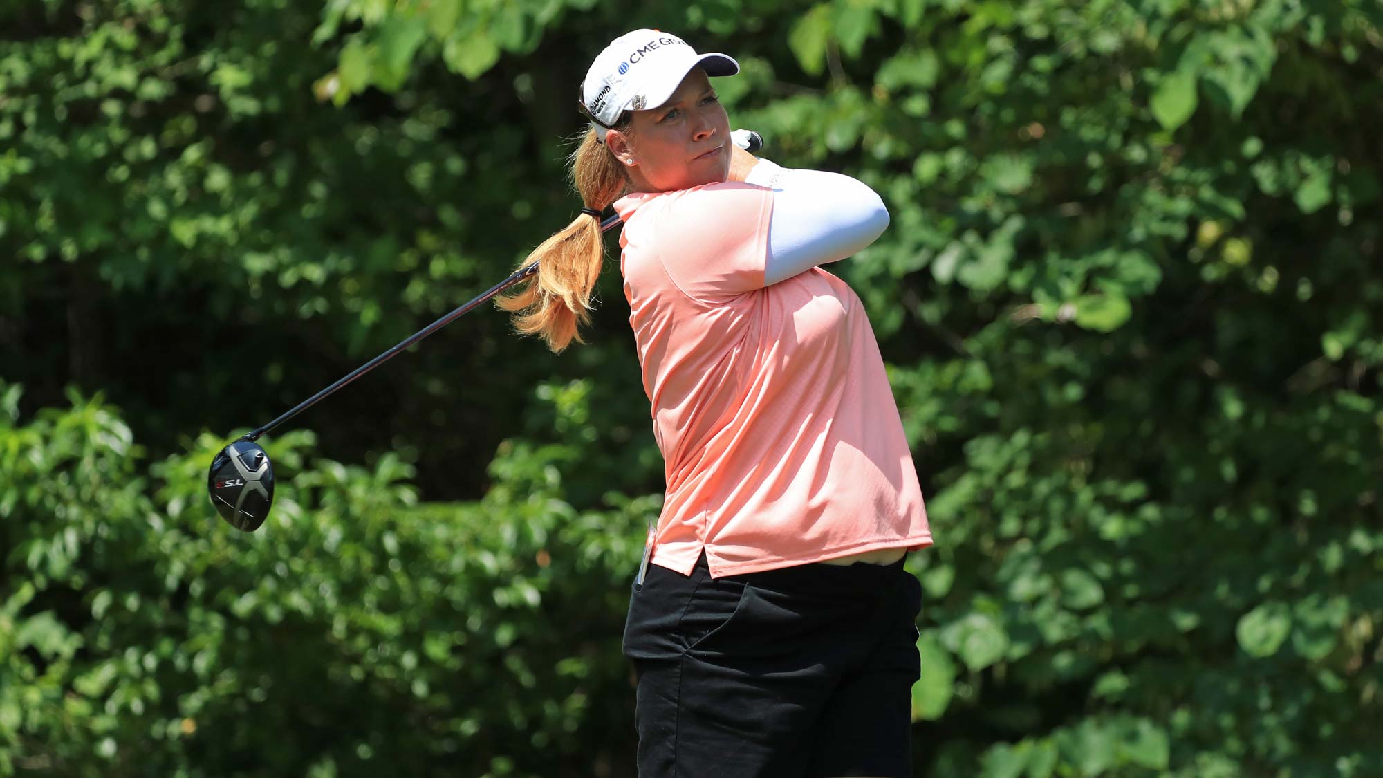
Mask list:
[[[739,145],[750,154],[754,154],[763,147],[763,137],[752,130],[734,130],[730,133],[730,140],[734,145]],[[604,234],[620,223],[621,220],[618,215],[607,216],[600,221],[600,233]],[[259,429],[245,433],[234,443],[227,444],[216,454],[216,457],[212,458],[212,468],[206,476],[206,491],[212,498],[212,505],[216,507],[216,512],[220,514],[227,523],[241,532],[254,532],[259,529],[260,525],[264,523],[264,519],[268,518],[270,507],[274,504],[274,465],[270,462],[268,454],[264,449],[256,443],[261,435],[315,406],[328,395],[375,370],[398,352],[451,324],[480,303],[494,298],[499,292],[503,292],[509,287],[513,287],[537,271],[537,262],[520,267],[519,270],[510,273],[508,278],[483,292],[480,296],[452,310],[437,321],[433,321],[418,332],[414,332],[397,346],[357,367],[349,375],[303,400],[284,415]]]

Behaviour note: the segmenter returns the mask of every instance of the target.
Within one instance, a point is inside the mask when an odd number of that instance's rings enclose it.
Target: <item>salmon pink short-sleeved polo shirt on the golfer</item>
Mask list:
[[[820,267],[763,285],[773,191],[635,192],[620,270],[667,498],[649,561],[712,577],[931,545],[859,296]]]

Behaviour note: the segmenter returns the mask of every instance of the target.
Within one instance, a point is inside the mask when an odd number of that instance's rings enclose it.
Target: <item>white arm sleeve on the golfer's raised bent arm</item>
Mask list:
[[[873,244],[888,227],[884,201],[849,176],[786,169],[759,159],[744,181],[774,192],[765,285],[839,262]]]

